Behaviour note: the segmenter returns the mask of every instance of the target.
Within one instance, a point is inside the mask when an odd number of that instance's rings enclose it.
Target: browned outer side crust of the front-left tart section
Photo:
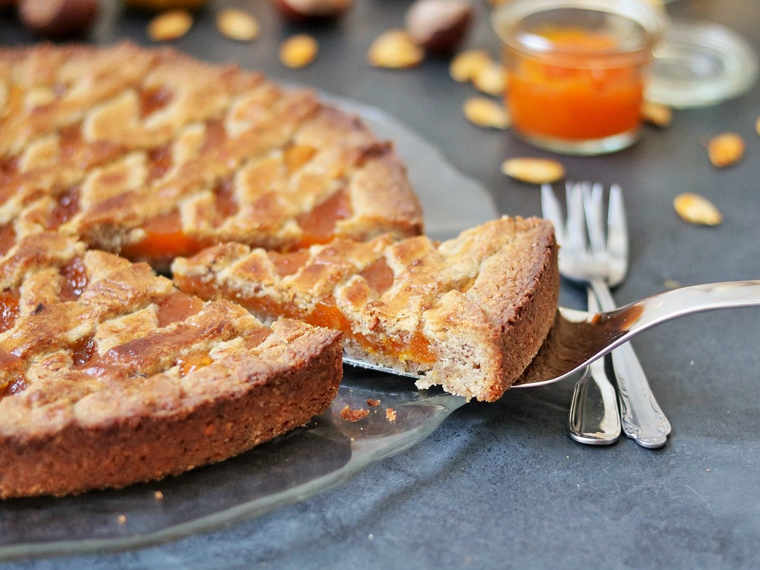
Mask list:
[[[324,411],[337,393],[340,342],[321,343],[305,351],[294,347],[299,360],[280,364],[263,379],[261,371],[241,366],[233,371],[242,384],[239,393],[220,392],[192,407],[93,426],[71,422],[55,436],[0,436],[0,498],[125,487],[269,441]]]

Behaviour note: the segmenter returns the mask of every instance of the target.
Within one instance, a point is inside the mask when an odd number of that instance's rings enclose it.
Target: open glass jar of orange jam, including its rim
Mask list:
[[[644,71],[666,26],[661,8],[648,0],[512,0],[493,25],[515,134],[566,154],[635,143]]]

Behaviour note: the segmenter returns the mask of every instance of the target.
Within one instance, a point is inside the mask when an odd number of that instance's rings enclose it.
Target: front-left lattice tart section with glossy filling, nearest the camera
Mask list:
[[[0,282],[0,498],[220,461],[304,424],[340,383],[340,332],[264,326],[62,235],[12,246]]]

